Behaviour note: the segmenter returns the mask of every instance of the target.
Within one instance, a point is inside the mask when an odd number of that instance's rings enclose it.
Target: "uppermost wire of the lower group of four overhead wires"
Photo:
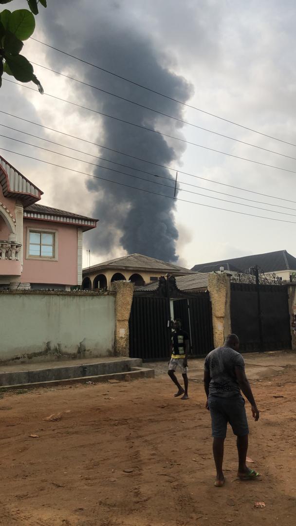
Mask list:
[[[188,173],[186,171],[182,171],[180,168],[171,168],[171,167],[166,166],[166,165],[162,165],[162,164],[159,164],[159,163],[154,163],[153,161],[148,161],[147,159],[142,159],[141,157],[136,157],[135,155],[127,154],[124,151],[115,150],[114,148],[108,148],[107,146],[103,146],[103,145],[98,144],[98,143],[92,143],[90,140],[84,139],[82,137],[76,137],[75,135],[67,134],[67,133],[65,133],[65,131],[56,130],[54,128],[50,128],[48,126],[45,126],[43,124],[35,123],[33,120],[28,120],[28,119],[25,119],[23,117],[19,117],[18,115],[14,115],[12,113],[4,112],[4,110],[2,110],[2,109],[0,109],[0,113],[3,113],[4,115],[8,115],[9,117],[14,117],[16,119],[23,120],[24,122],[29,123],[29,124],[34,124],[35,126],[39,126],[40,128],[44,128],[44,129],[47,129],[49,131],[54,131],[55,133],[59,133],[61,135],[65,135],[66,137],[70,137],[72,139],[81,140],[84,143],[91,144],[91,145],[97,146],[99,148],[104,148],[104,149],[106,149],[108,151],[113,151],[116,154],[124,155],[125,157],[130,157],[131,159],[136,159],[136,160],[141,161],[143,163],[151,164],[153,166],[158,166],[160,168],[166,168],[167,170],[171,170],[171,171],[174,171],[174,172],[178,171],[179,174],[188,175],[190,177],[195,177],[196,179],[201,179],[203,181],[207,181],[207,183],[209,183],[209,182],[210,183],[215,183],[217,185],[226,186],[228,188],[234,188],[236,190],[242,190],[242,191],[248,192],[250,194],[256,194],[256,195],[263,196],[263,197],[270,197],[271,199],[279,199],[281,201],[287,201],[288,203],[296,203],[296,201],[293,201],[292,199],[284,199],[283,197],[271,196],[269,194],[262,194],[260,192],[256,192],[255,190],[249,190],[247,188],[241,188],[239,186],[229,185],[227,183],[221,183],[220,181],[215,181],[213,179],[207,179],[206,177],[201,177],[199,175],[190,174],[190,173]],[[22,132],[22,133],[24,133],[24,132]],[[47,140],[47,139],[44,139],[44,140]],[[156,174],[154,174],[154,176],[158,177]],[[280,205],[273,205],[273,206],[280,206]]]

